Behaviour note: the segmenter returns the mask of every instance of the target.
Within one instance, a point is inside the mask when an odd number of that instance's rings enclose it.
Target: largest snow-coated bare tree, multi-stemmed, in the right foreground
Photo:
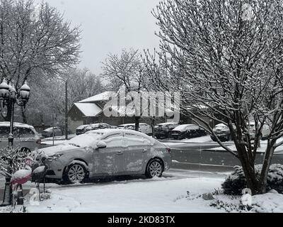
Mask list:
[[[145,57],[152,86],[178,89],[183,109],[210,133],[202,116],[229,127],[236,151],[217,141],[241,161],[253,194],[266,192],[272,155],[283,144],[282,7],[281,0],[161,1],[153,11],[161,50]],[[270,134],[256,175],[264,126]]]

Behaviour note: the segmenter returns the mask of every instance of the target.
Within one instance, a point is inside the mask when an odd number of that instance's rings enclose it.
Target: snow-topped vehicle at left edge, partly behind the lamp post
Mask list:
[[[0,122],[0,148],[8,147],[10,122]],[[40,136],[33,126],[25,123],[13,123],[13,147],[30,152],[40,147]]]

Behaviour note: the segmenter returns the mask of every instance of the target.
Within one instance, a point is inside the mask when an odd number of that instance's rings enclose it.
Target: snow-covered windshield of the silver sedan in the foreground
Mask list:
[[[103,133],[86,133],[82,135],[77,135],[74,138],[71,138],[71,140],[68,140],[65,145],[73,145],[80,148],[86,148],[93,146],[93,143],[95,143],[97,140],[100,140],[100,138],[103,136]]]

